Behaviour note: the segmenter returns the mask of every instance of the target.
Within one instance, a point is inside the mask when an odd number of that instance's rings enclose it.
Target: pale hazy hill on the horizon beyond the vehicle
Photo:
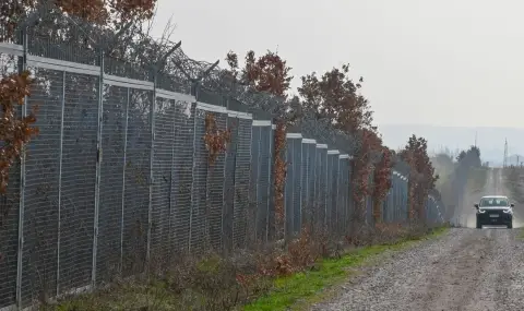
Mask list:
[[[448,148],[452,153],[468,148],[475,143],[480,148],[483,162],[490,166],[501,166],[504,155],[504,140],[508,139],[508,153],[515,155],[509,163],[516,163],[516,155],[524,154],[524,129],[521,128],[468,128],[468,127],[440,127],[425,124],[379,124],[384,143],[391,148],[403,147],[412,134],[424,136],[428,140],[430,153],[439,153]],[[521,162],[524,157],[521,156]]]

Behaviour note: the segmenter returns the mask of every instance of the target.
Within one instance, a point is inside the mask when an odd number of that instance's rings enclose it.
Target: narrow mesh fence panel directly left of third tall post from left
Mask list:
[[[141,273],[147,256],[153,92],[132,88],[126,148],[123,275]]]

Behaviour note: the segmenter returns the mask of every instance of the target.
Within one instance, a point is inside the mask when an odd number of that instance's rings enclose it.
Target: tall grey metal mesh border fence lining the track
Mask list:
[[[40,129],[1,202],[9,213],[0,216],[0,310],[141,273],[157,258],[275,239],[271,113],[151,71],[135,74],[103,53],[71,61],[53,48],[27,34],[21,45],[0,43],[2,67],[37,77],[21,113],[38,105]],[[231,130],[213,167],[203,141],[209,112]],[[305,124],[287,132],[287,237],[308,222],[333,234],[349,224],[353,155],[331,142]],[[398,164],[384,222],[407,220],[406,176]],[[430,194],[427,220],[443,222],[442,208]]]

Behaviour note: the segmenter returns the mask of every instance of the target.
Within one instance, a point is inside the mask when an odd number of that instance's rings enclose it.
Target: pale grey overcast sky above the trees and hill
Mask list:
[[[377,123],[519,127],[524,1],[158,0],[193,59],[275,50],[296,76],[349,62]]]

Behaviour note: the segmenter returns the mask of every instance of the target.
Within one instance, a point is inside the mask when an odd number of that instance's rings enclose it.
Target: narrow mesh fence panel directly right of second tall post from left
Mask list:
[[[120,274],[128,87],[104,85],[102,168],[96,259],[97,282]]]

